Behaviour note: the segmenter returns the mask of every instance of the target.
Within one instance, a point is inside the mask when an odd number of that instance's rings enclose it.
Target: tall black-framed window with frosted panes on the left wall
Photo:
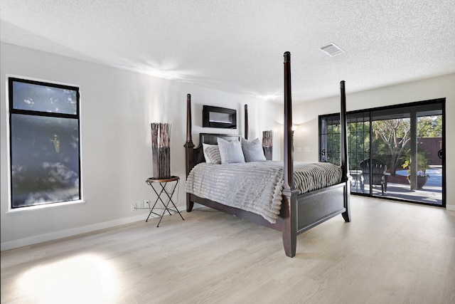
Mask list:
[[[81,199],[79,88],[9,78],[11,209]]]

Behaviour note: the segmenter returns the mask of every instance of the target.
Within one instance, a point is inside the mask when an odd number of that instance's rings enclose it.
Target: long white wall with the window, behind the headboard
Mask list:
[[[58,239],[131,221],[145,221],[146,210],[131,205],[154,199],[145,180],[151,177],[151,122],[171,123],[171,174],[181,177],[178,206],[185,210],[186,94],[193,101],[193,141],[202,128],[202,105],[237,110],[237,130],[243,132],[243,109],[257,112],[255,100],[196,85],[163,80],[108,68],[73,58],[0,45],[1,250]],[[36,78],[80,87],[82,191],[85,204],[38,211],[9,211],[7,163],[7,76]],[[257,115],[250,115],[250,138],[260,137]]]

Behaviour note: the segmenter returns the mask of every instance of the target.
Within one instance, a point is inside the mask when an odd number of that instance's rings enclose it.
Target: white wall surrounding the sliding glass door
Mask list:
[[[348,111],[437,98],[446,98],[446,208],[455,210],[455,188],[451,187],[455,184],[455,157],[451,154],[451,151],[455,151],[455,74],[352,94],[346,81]],[[294,122],[301,123],[294,134],[294,147],[306,147],[309,150],[295,152],[296,160],[318,161],[318,115],[335,112],[340,112],[339,96],[294,105]]]

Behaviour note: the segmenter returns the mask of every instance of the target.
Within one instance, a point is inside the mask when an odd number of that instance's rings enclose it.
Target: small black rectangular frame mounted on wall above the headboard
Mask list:
[[[237,129],[237,110],[204,105],[202,126]]]

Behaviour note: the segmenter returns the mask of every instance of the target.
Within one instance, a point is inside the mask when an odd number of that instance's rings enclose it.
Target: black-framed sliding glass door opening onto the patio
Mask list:
[[[445,206],[444,102],[349,112],[351,193]],[[319,118],[321,161],[333,162],[339,115]]]

